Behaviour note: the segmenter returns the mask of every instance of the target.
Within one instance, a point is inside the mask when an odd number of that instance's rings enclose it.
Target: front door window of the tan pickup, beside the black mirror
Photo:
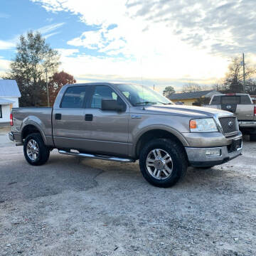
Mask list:
[[[96,85],[92,95],[91,108],[102,108],[102,99],[119,100],[117,94],[107,85]]]

